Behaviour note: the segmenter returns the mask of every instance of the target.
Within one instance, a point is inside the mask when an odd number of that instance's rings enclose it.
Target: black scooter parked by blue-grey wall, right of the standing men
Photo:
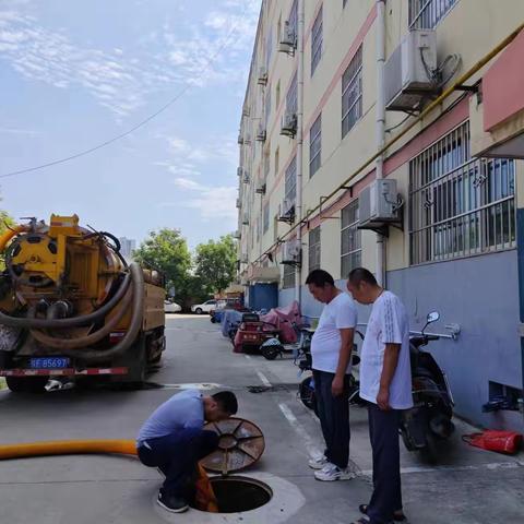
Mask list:
[[[425,333],[426,327],[439,319],[437,311],[429,313],[421,334],[409,340],[414,407],[404,412],[400,427],[406,449],[419,451],[430,463],[437,461],[438,442],[449,439],[455,429],[454,401],[445,373],[432,355],[422,350],[429,342],[440,338]]]

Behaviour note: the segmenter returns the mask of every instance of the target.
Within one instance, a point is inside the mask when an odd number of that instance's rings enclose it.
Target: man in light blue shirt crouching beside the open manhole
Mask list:
[[[203,396],[198,390],[187,390],[171,396],[144,422],[136,438],[138,455],[142,464],[166,476],[157,500],[162,508],[171,513],[188,510],[198,463],[218,445],[218,436],[202,428],[206,421],[235,415],[237,408],[230,391]]]

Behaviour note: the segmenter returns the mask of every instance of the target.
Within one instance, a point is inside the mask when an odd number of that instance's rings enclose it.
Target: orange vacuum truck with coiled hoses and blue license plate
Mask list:
[[[13,392],[50,377],[140,386],[165,348],[162,273],[76,215],[27,221],[0,237],[0,377]]]

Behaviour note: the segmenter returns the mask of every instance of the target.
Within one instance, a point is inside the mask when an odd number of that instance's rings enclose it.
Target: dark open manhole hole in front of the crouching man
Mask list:
[[[211,477],[219,513],[255,510],[270,502],[273,490],[264,483],[249,477]]]

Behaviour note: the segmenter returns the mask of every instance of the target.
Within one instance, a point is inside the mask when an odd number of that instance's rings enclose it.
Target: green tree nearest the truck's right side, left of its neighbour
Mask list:
[[[180,229],[151,231],[150,238],[133,252],[133,259],[162,271],[166,275],[166,290],[175,288],[177,299],[187,298],[191,253]]]

